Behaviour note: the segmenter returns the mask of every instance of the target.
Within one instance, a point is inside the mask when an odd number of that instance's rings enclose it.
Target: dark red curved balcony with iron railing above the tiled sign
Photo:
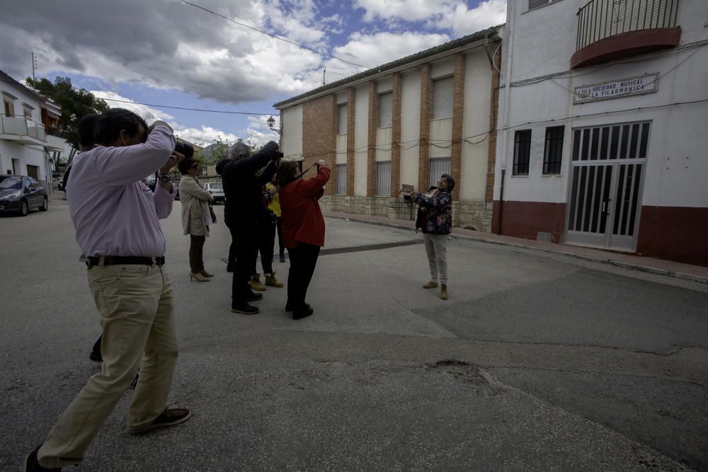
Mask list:
[[[590,0],[578,11],[571,68],[675,47],[679,0]]]

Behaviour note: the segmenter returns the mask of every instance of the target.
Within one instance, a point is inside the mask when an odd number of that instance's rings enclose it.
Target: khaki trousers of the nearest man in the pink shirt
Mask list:
[[[47,468],[79,464],[138,367],[128,430],[149,425],[166,408],[177,361],[172,285],[164,266],[97,265],[88,279],[101,313],[103,366],[42,444],[38,460]]]

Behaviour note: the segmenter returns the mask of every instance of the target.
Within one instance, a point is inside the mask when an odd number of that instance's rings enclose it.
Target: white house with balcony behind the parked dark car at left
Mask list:
[[[52,170],[63,139],[47,133],[59,125],[59,105],[0,71],[0,171],[28,175],[52,192]]]

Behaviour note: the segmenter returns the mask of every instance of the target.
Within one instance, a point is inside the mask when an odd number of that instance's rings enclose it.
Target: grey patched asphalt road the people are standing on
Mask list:
[[[442,301],[420,235],[329,219],[314,316],[275,288],[242,316],[223,222],[216,277],[190,282],[180,209],[171,405],[194,416],[131,436],[128,391],[80,470],[708,470],[705,284],[455,239]],[[0,242],[0,470],[19,470],[98,371],[99,327],[66,202],[0,217]]]

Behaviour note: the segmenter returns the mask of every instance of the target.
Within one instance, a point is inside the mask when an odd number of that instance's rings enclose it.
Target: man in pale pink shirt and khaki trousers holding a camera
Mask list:
[[[111,108],[98,118],[95,136],[98,145],[74,161],[67,197],[101,313],[103,367],[27,456],[25,471],[79,464],[138,367],[128,432],[178,425],[191,416],[187,409],[166,408],[177,336],[159,219],[172,211],[175,190],[166,174],[181,159],[173,155],[173,131],[165,122],[147,127],[135,113]],[[161,179],[153,193],[140,180],[155,169]]]

